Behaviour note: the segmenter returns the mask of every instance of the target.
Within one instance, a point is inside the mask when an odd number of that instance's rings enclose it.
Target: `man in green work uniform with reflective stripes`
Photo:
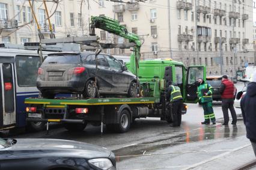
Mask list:
[[[210,120],[212,120],[213,124],[216,124],[215,114],[212,107],[212,86],[209,83],[204,82],[202,78],[198,79],[198,83],[198,102],[201,103],[204,109],[204,121],[201,122],[201,124],[210,124]]]

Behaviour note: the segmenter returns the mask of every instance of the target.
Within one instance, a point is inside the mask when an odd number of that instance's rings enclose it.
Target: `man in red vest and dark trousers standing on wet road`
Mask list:
[[[222,125],[228,125],[228,121],[230,121],[228,109],[230,109],[232,116],[231,124],[236,125],[237,117],[234,109],[234,83],[228,80],[227,75],[222,76],[221,88],[219,88],[219,92],[221,93],[221,107],[224,116],[224,123],[222,123]]]

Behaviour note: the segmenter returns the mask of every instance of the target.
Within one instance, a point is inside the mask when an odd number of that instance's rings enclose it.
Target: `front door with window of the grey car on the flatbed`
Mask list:
[[[128,76],[123,71],[123,65],[114,57],[105,55],[109,68],[112,71],[112,90],[115,92],[127,92],[129,87]]]

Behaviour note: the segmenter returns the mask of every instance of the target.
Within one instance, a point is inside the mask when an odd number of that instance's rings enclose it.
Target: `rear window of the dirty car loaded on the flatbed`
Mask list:
[[[49,55],[44,59],[44,64],[78,64],[81,61],[77,54]]]

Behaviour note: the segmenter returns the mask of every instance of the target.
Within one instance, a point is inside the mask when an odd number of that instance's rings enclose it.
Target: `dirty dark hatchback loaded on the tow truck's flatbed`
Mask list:
[[[59,93],[82,94],[91,98],[99,94],[129,97],[137,94],[136,76],[126,66],[103,53],[96,59],[93,52],[48,55],[38,69],[37,88],[46,98]]]

